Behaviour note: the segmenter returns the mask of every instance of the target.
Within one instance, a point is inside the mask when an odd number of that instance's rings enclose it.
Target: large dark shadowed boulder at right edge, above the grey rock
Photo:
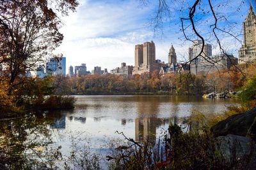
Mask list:
[[[213,127],[211,132],[215,136],[227,134],[250,136],[256,139],[256,107],[250,111],[234,114],[227,119],[220,121]]]

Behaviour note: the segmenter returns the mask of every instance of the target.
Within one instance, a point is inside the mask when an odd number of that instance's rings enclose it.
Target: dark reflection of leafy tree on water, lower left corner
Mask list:
[[[54,112],[0,120],[0,169],[53,168],[61,153],[48,127],[60,117],[59,112]]]

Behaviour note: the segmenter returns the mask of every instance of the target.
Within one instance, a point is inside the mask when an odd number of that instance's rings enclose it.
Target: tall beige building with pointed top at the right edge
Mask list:
[[[238,52],[239,64],[250,63],[256,59],[256,18],[252,4],[250,4],[248,16],[243,22],[243,42],[244,44]]]

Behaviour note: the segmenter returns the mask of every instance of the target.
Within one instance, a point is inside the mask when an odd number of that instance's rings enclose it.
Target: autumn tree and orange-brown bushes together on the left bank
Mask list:
[[[74,12],[77,5],[76,0],[0,2],[1,113],[21,112],[31,107],[42,109],[50,107],[47,104],[52,100],[60,99],[52,96],[51,77],[28,78],[26,72],[50,56],[60,59],[61,55],[53,54],[63,40],[58,15]],[[67,104],[67,98],[61,99],[62,103]]]

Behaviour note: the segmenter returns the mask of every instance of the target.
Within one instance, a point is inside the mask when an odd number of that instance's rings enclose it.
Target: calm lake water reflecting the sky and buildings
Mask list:
[[[3,145],[4,141],[16,140],[19,148],[35,141],[36,143],[51,141],[55,146],[61,146],[63,155],[68,155],[71,146],[90,143],[91,150],[106,155],[109,151],[109,143],[124,139],[115,133],[116,130],[140,142],[149,136],[150,141],[154,143],[171,122],[179,123],[193,110],[215,114],[225,111],[230,105],[237,104],[237,101],[232,99],[214,100],[201,97],[76,96],[76,98],[76,108],[71,111],[44,112],[14,120],[0,120],[0,145]],[[6,147],[8,146],[6,144]]]

